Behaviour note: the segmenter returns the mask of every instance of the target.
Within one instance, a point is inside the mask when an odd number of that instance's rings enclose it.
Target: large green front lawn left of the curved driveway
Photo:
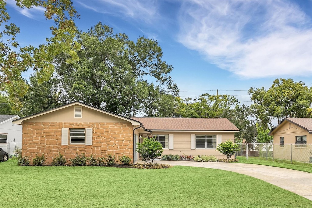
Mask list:
[[[1,207],[311,207],[312,201],[235,172],[0,163]]]

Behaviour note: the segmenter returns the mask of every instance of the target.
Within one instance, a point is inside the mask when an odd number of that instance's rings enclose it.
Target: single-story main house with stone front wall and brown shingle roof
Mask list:
[[[58,152],[67,161],[85,153],[126,155],[133,162],[139,159],[136,143],[149,135],[163,145],[163,154],[225,158],[216,151],[217,145],[229,139],[234,142],[239,131],[226,118],[128,118],[81,102],[12,122],[22,125],[22,155],[29,157],[30,164],[36,154],[44,154],[51,163]]]

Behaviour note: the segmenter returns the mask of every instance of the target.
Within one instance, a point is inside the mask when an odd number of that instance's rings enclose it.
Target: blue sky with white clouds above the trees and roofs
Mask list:
[[[45,20],[43,8],[7,4],[21,29],[21,46],[51,37],[53,22]],[[74,0],[73,5],[82,31],[100,21],[133,41],[157,40],[183,98],[219,89],[250,104],[246,91],[268,89],[276,78],[312,86],[312,1]]]

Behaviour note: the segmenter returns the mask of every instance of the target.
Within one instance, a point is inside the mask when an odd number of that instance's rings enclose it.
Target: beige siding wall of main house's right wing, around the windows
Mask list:
[[[157,132],[152,134],[173,134],[173,150],[163,149],[163,155],[178,154],[178,155],[214,155],[217,158],[226,158],[215,149],[195,149],[191,150],[191,134],[195,135],[222,135],[222,142],[231,140],[234,142],[234,133],[232,132]]]

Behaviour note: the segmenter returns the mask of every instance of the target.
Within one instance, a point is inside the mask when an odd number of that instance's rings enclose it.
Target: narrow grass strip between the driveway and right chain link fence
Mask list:
[[[293,162],[290,164],[290,161],[272,161],[272,159],[262,158],[258,159],[254,157],[248,157],[248,160],[244,156],[237,156],[236,157],[239,161],[238,163],[249,163],[249,164],[257,164],[257,165],[265,165],[265,166],[274,166],[274,167],[282,167],[293,169],[297,171],[305,171],[308,173],[312,173],[312,164],[311,163],[304,163],[304,162]],[[289,163],[286,163],[289,162]]]

